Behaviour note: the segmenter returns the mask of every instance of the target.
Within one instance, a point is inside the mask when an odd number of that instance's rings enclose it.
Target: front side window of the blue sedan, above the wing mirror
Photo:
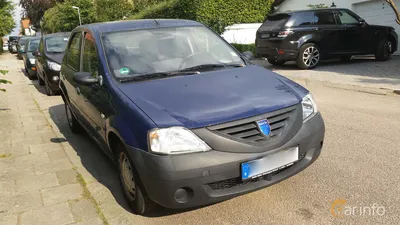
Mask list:
[[[83,72],[89,72],[94,77],[98,76],[99,61],[93,36],[90,33],[85,33],[82,58]]]

